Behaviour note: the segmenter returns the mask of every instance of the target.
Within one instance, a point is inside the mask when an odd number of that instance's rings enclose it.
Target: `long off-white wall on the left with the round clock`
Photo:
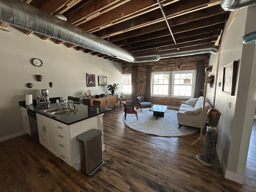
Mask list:
[[[11,32],[0,30],[0,141],[24,134],[18,102],[25,100],[26,94],[35,98],[36,90],[41,93],[41,89],[61,99],[82,97],[88,89],[92,95],[110,94],[107,86],[98,86],[97,76],[107,76],[108,84],[119,83],[121,92],[122,64],[42,40],[35,34],[28,36],[11,26],[8,30]],[[43,65],[32,65],[32,58],[40,58]],[[86,86],[86,73],[96,75],[95,87]],[[42,82],[35,79],[36,74],[43,76]],[[27,88],[27,83],[33,87]]]

